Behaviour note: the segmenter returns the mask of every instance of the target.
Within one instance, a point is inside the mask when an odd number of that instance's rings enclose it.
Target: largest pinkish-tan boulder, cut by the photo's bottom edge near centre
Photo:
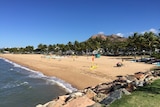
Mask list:
[[[93,105],[95,102],[89,99],[87,96],[78,97],[67,104],[65,104],[63,107],[87,107]],[[53,106],[54,107],[54,106]]]

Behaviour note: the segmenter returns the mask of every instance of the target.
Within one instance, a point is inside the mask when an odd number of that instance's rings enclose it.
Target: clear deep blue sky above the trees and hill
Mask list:
[[[0,48],[128,37],[160,28],[159,0],[0,0]]]

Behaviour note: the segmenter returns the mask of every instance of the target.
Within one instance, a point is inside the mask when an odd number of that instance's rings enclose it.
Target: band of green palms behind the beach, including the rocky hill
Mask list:
[[[68,42],[67,44],[39,44],[34,46],[2,48],[3,53],[40,53],[58,55],[91,55],[100,53],[102,55],[152,55],[160,57],[160,34],[145,32],[134,33],[128,38],[117,35],[97,34],[83,42]]]

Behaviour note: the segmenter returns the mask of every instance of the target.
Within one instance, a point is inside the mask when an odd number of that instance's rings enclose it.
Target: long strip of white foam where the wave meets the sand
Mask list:
[[[77,89],[72,87],[71,84],[69,84],[69,83],[67,83],[67,82],[65,82],[65,81],[63,81],[63,80],[61,80],[59,78],[56,78],[56,77],[53,77],[53,76],[52,77],[46,76],[41,72],[31,70],[31,69],[29,69],[27,67],[24,67],[24,66],[21,66],[19,64],[16,64],[16,63],[14,63],[14,62],[12,62],[12,61],[10,61],[8,59],[5,59],[5,58],[0,58],[0,59],[3,59],[4,61],[12,64],[14,67],[22,68],[22,69],[25,69],[25,70],[27,70],[29,72],[32,72],[31,74],[29,74],[30,78],[43,78],[49,83],[56,83],[57,85],[59,85],[60,87],[64,88],[67,92],[70,92],[70,93],[73,92],[73,91],[77,91]]]

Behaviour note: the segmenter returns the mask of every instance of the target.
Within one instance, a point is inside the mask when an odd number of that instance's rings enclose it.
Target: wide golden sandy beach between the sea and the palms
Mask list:
[[[25,67],[42,72],[48,76],[60,78],[77,89],[96,86],[102,82],[111,82],[118,75],[132,75],[153,68],[152,64],[123,61],[124,66],[116,67],[122,62],[120,57],[101,56],[92,61],[92,56],[65,56],[63,58],[49,58],[35,54],[0,54]],[[95,69],[91,69],[92,65]]]

